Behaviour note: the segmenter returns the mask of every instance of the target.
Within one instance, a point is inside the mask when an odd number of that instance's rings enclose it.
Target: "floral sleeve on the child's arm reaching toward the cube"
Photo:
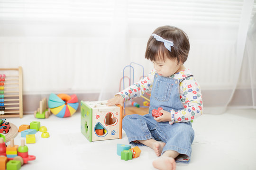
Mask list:
[[[154,75],[155,69],[153,69],[145,78],[143,78],[142,80],[138,81],[133,85],[130,85],[128,88],[117,93],[116,95],[121,95],[124,98],[125,102],[141,96],[142,94],[151,90],[153,86]]]

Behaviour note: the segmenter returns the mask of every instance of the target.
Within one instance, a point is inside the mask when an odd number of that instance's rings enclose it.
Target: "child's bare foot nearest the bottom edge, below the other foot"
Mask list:
[[[161,156],[157,160],[153,161],[153,166],[158,170],[175,170],[176,162],[174,158]]]

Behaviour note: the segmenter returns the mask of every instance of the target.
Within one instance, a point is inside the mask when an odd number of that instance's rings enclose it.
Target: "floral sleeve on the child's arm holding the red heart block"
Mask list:
[[[180,83],[180,99],[184,109],[171,110],[170,124],[188,122],[201,116],[203,111],[201,88],[193,76],[185,78]]]

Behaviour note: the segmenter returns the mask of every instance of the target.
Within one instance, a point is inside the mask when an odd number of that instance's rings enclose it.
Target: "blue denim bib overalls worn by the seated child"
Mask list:
[[[174,123],[157,122],[152,117],[152,110],[162,107],[164,110],[183,110],[180,100],[179,84],[183,79],[159,76],[155,73],[154,83],[150,97],[149,113],[141,116],[137,114],[127,115],[123,119],[123,129],[128,136],[130,144],[144,146],[138,140],[155,139],[165,143],[162,154],[167,150],[173,150],[180,155],[177,162],[188,163],[191,156],[191,144],[194,139],[194,131],[191,122]]]

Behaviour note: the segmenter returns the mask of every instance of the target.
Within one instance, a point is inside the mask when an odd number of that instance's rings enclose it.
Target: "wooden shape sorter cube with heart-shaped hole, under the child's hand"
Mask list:
[[[90,141],[121,139],[123,107],[81,101],[81,132]]]

